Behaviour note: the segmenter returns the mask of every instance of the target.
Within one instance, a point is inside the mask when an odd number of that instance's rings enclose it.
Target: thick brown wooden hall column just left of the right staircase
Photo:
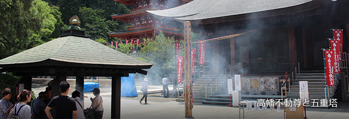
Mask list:
[[[297,63],[297,48],[296,48],[296,35],[295,28],[290,26],[288,28],[288,41],[289,41],[289,53],[290,53],[290,65],[296,65]]]

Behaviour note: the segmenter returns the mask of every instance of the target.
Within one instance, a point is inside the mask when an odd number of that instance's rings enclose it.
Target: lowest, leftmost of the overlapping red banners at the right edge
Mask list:
[[[327,86],[335,86],[334,84],[334,51],[324,50],[325,68],[326,68],[326,82]]]

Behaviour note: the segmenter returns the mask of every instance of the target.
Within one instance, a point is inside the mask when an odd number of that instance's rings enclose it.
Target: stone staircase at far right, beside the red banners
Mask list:
[[[335,91],[338,84],[338,78],[335,78],[335,86],[330,88],[330,98],[332,99],[335,95]],[[291,82],[290,91],[287,92],[287,98],[299,99],[299,81],[308,81],[309,99],[326,99],[325,97],[325,86],[326,79],[325,73],[298,73],[297,79],[294,80],[294,85]]]

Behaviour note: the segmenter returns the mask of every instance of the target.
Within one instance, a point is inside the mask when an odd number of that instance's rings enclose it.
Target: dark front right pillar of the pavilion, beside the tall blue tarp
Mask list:
[[[121,77],[112,76],[112,111],[111,119],[120,119]]]

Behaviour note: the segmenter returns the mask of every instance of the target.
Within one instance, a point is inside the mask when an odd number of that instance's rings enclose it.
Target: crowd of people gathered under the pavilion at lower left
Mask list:
[[[3,98],[0,100],[0,119],[11,119],[17,117],[19,119],[102,119],[103,117],[103,99],[99,95],[99,88],[93,89],[95,98],[92,101],[91,112],[85,110],[84,101],[80,99],[80,92],[75,90],[72,96],[68,96],[70,84],[62,81],[59,84],[60,95],[48,98],[47,92],[40,92],[38,97],[31,101],[31,91],[22,90],[16,97],[16,103],[12,104],[11,89],[5,88],[2,91]],[[87,98],[87,96],[84,96]],[[29,105],[28,105],[29,104]],[[54,108],[53,117],[51,115]],[[90,115],[93,113],[94,115]],[[86,117],[93,116],[93,117]]]

